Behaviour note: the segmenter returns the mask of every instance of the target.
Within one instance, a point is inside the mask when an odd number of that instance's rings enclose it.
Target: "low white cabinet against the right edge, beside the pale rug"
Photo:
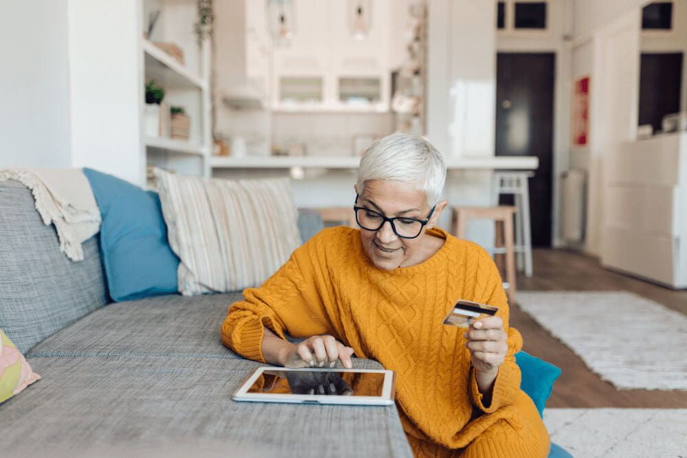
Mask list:
[[[609,154],[602,264],[687,288],[687,133]]]

